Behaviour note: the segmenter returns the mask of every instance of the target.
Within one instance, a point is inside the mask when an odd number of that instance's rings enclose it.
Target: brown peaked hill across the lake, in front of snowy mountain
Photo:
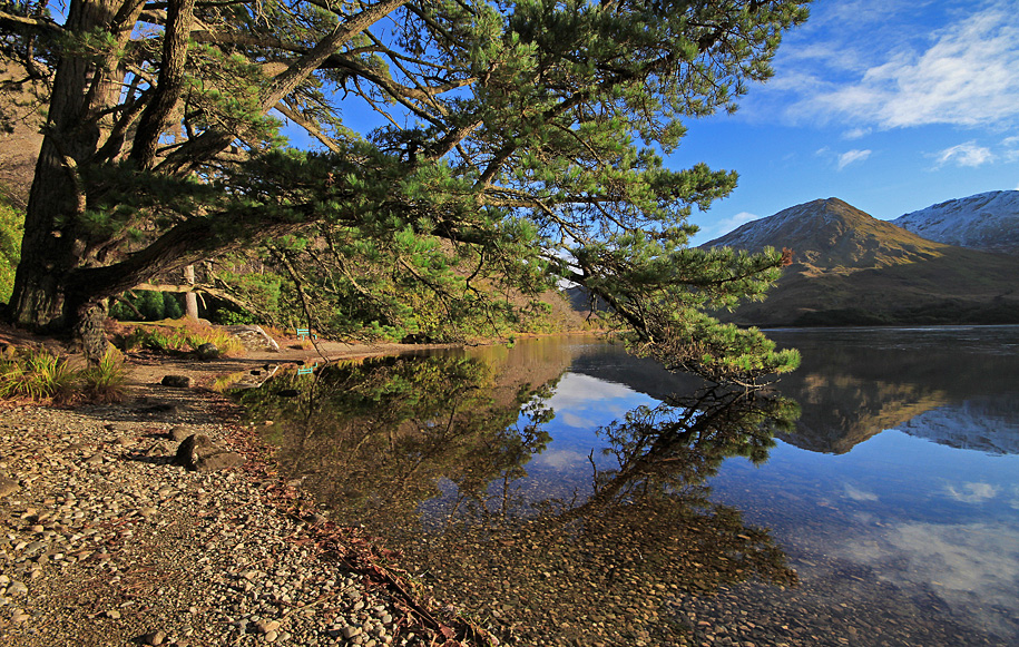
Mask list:
[[[837,198],[754,220],[705,247],[788,247],[793,265],[743,324],[1019,323],[1019,259],[928,241]]]

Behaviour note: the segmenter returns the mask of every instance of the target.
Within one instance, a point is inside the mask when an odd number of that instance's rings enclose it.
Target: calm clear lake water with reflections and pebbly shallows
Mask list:
[[[244,401],[504,643],[1019,644],[1019,327],[770,334],[803,365],[765,396],[568,336]]]

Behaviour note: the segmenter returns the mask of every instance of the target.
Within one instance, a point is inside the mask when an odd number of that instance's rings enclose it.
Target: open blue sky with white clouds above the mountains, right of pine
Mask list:
[[[669,158],[739,173],[694,244],[817,198],[890,219],[1019,188],[1015,0],[815,0],[774,68]]]

